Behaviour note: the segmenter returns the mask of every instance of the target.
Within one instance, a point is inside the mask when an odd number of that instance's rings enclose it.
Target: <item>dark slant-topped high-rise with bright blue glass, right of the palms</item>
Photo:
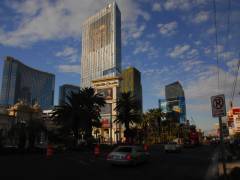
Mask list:
[[[165,96],[167,110],[173,112],[174,117],[176,117],[177,113],[177,121],[179,123],[184,123],[186,121],[186,103],[184,91],[180,82],[177,81],[165,86]]]

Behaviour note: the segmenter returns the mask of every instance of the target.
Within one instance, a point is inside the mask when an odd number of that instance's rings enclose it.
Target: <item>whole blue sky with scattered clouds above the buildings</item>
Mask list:
[[[122,67],[141,71],[144,110],[157,107],[165,85],[180,81],[188,118],[202,129],[213,127],[210,97],[224,93],[228,102],[240,53],[240,1],[229,1],[216,0],[216,48],[212,0],[117,0],[122,13]],[[107,2],[2,0],[0,83],[3,57],[13,56],[56,75],[57,103],[60,85],[80,84],[81,24]],[[238,82],[237,92],[239,87]],[[234,105],[239,100],[236,93]]]

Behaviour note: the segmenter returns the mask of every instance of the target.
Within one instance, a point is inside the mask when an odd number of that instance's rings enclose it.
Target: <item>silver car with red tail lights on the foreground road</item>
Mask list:
[[[141,146],[118,146],[107,156],[107,161],[116,165],[136,165],[148,159],[149,152]]]

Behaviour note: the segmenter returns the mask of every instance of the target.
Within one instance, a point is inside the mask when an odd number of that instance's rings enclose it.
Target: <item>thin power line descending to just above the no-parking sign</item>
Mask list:
[[[217,31],[217,8],[216,2],[213,0],[213,9],[214,9],[214,28],[215,28],[215,46],[216,46],[216,58],[217,58],[217,77],[218,77],[218,91],[219,91],[219,52],[218,52],[218,31]]]

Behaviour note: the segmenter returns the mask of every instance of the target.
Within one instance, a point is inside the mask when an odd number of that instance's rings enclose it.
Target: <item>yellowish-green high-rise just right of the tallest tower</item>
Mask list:
[[[142,111],[142,84],[141,73],[134,67],[129,67],[122,71],[121,92],[132,92],[132,95],[139,101],[139,107]]]

